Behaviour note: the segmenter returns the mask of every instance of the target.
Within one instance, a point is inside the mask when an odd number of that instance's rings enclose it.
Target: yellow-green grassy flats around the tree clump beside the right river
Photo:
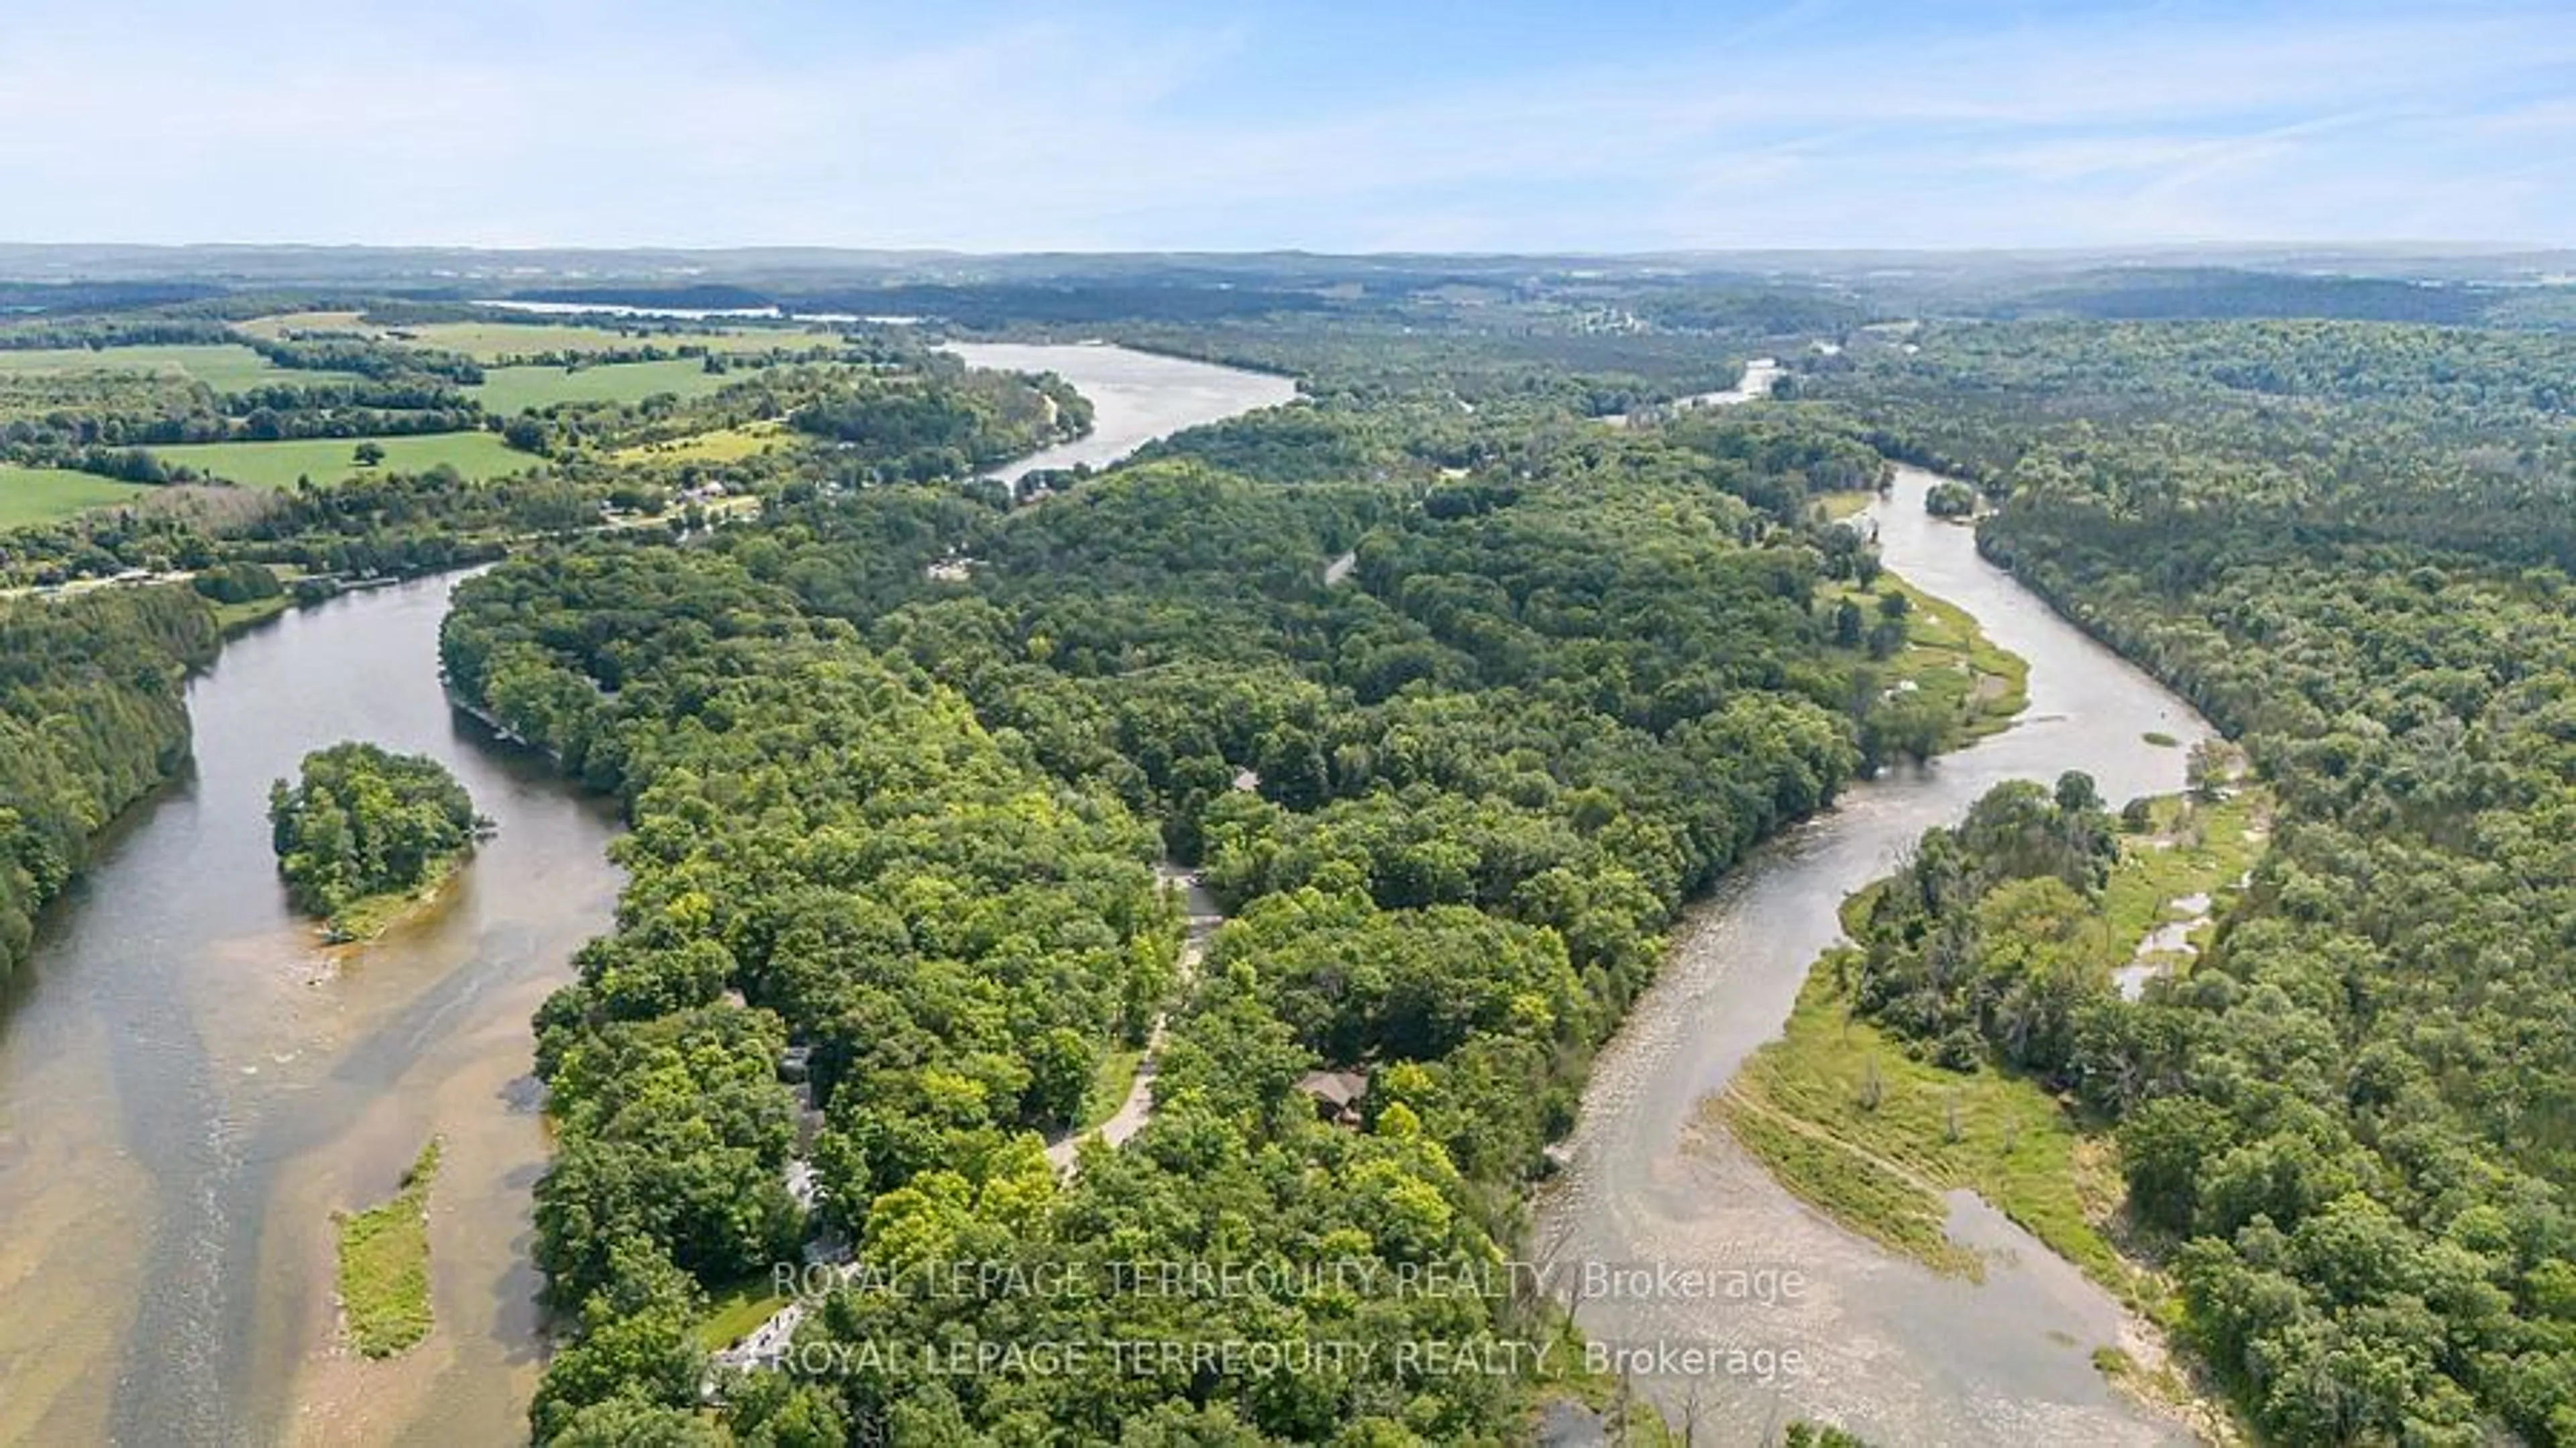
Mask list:
[[[2262,788],[2138,801],[2120,814],[2084,899],[2071,910],[2071,894],[2050,899],[2020,920],[1981,910],[1976,948],[1991,958],[2043,943],[2074,971],[2069,992],[2117,1010],[2120,971],[2179,979],[2208,953],[2213,917],[2244,889],[2269,817]],[[1929,832],[1917,858],[1965,830],[1973,824]],[[1911,879],[1888,876],[1844,899],[1844,935],[1857,946],[1819,956],[1780,1038],[1754,1051],[1705,1113],[1790,1196],[1937,1273],[1984,1275],[1984,1260],[1945,1229],[1945,1196],[1976,1193],[2130,1311],[2148,1340],[2099,1353],[2105,1376],[2195,1427],[2233,1433],[2213,1386],[2195,1381],[2200,1368],[2174,1363],[2161,1342],[2179,1327],[2182,1301],[2164,1244],[2130,1221],[2112,1123],[2002,1051],[1873,1020],[1873,943],[1880,953],[1896,943],[1880,897],[1899,886],[1911,889]]]

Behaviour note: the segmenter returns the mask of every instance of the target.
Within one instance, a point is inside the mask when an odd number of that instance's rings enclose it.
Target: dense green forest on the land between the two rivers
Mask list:
[[[1808,490],[1875,459],[1814,425],[1690,438],[1533,441],[1440,510],[1190,461],[1015,513],[871,490],[461,587],[459,693],[636,824],[621,930],[538,1020],[564,1121],[538,1257],[577,1340],[536,1435],[716,1433],[690,1319],[814,1226],[783,1172],[791,1043],[814,1216],[886,1273],[1499,1260],[1680,904],[1865,768],[1880,691],[1819,595],[1855,551]],[[927,577],[948,559],[963,577]],[[1159,853],[1236,917],[1190,989]],[[1154,1121],[1059,1183],[1036,1134],[1175,997]],[[1319,1121],[1314,1067],[1370,1072],[1358,1129]],[[806,1327],[853,1353],[1538,1332],[1510,1293],[1293,1286],[848,1288]],[[1391,1353],[940,1376],[904,1350],[726,1384],[721,1430],[1499,1443],[1530,1386]]]

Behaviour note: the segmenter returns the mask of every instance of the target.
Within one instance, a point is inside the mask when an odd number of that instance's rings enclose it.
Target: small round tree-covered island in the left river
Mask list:
[[[286,897],[345,943],[433,897],[492,822],[438,760],[345,742],[268,786],[268,827]]]

